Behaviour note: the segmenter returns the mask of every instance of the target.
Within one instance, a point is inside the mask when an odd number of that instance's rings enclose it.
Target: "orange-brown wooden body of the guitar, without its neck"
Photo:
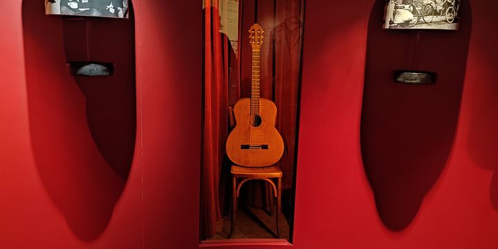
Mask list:
[[[259,99],[259,126],[252,126],[250,98],[235,103],[237,125],[228,135],[226,152],[239,166],[265,167],[277,163],[284,153],[284,140],[275,128],[277,106],[268,99]]]

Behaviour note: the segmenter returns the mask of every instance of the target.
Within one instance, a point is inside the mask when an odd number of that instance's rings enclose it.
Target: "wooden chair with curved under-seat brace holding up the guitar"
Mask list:
[[[234,126],[234,118],[232,108],[228,108],[230,126]],[[277,199],[277,210],[275,210],[275,222],[277,228],[277,237],[280,237],[279,231],[279,212],[281,210],[281,199],[282,199],[282,170],[280,170],[277,166],[268,166],[268,167],[244,167],[232,165],[232,169],[230,170],[232,175],[232,220],[230,222],[230,235],[229,238],[232,239],[235,232],[235,217],[237,214],[237,200],[239,199],[240,189],[243,186],[243,183],[252,180],[263,180],[267,182],[266,192],[267,195],[269,192],[273,193],[273,197]],[[275,181],[277,184],[275,185]],[[273,191],[272,191],[273,190]],[[269,196],[270,203],[270,214],[273,214],[273,198]]]

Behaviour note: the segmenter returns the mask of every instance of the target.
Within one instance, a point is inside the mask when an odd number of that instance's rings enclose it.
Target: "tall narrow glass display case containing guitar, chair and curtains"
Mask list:
[[[205,0],[201,240],[291,241],[304,0]]]

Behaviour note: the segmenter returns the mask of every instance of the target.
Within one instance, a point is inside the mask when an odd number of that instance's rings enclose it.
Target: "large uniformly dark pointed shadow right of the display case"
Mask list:
[[[369,19],[361,147],[380,218],[403,230],[437,181],[457,128],[471,12],[463,1],[459,31],[382,30],[386,1]],[[394,83],[393,70],[437,73],[435,85]]]

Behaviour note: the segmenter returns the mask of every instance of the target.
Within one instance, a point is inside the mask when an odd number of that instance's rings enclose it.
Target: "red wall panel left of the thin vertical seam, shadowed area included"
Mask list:
[[[12,122],[4,137],[8,141],[22,135],[13,143],[23,146],[14,150],[7,142],[2,150],[12,155],[12,161],[3,161],[6,168],[1,175],[12,183],[2,186],[6,190],[2,202],[12,205],[2,210],[7,214],[2,217],[6,221],[2,236],[8,239],[0,240],[7,241],[6,248],[140,246],[140,233],[132,232],[140,228],[140,216],[132,215],[138,200],[124,190],[127,184],[136,184],[128,181],[136,137],[133,21],[107,22],[85,30],[64,26],[62,17],[47,17],[37,0],[1,4],[19,10],[9,12],[10,19],[18,21],[12,23],[15,29],[2,35],[10,41],[2,41],[9,49],[3,51],[0,70],[2,77],[14,79],[2,93],[19,102],[2,106],[21,116],[4,116],[3,121]],[[113,30],[99,30],[104,27]],[[12,43],[13,39],[19,42]],[[112,39],[112,49],[102,49]],[[86,56],[75,58],[73,51]],[[88,58],[93,54],[98,55]],[[71,77],[66,61],[74,59],[110,61],[116,64],[116,73]],[[116,241],[104,236],[109,234],[129,235]]]

